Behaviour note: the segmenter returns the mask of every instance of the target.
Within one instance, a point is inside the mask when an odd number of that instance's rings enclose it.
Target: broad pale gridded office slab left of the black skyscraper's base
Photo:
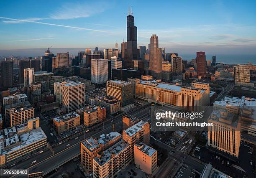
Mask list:
[[[92,83],[104,84],[108,81],[108,59],[92,59]]]

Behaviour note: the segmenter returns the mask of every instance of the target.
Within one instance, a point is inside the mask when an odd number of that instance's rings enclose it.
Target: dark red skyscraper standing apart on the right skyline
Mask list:
[[[206,76],[206,58],[205,52],[197,52],[196,57],[197,63],[197,76],[205,77]]]

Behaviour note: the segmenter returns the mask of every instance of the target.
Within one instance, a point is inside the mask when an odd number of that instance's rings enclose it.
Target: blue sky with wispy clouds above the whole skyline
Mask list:
[[[138,46],[156,34],[166,52],[256,54],[255,0],[1,0],[0,56],[50,46],[120,47],[129,5]]]

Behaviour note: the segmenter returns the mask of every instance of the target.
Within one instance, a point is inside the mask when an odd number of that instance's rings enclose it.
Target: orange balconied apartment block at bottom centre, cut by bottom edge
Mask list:
[[[93,177],[116,177],[121,169],[131,163],[131,145],[120,141],[102,153],[98,153],[93,160]]]

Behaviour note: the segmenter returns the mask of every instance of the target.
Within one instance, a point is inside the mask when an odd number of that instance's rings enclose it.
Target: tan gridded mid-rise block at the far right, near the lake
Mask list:
[[[234,66],[234,82],[236,86],[250,86],[254,84],[250,80],[250,69],[245,66]]]

